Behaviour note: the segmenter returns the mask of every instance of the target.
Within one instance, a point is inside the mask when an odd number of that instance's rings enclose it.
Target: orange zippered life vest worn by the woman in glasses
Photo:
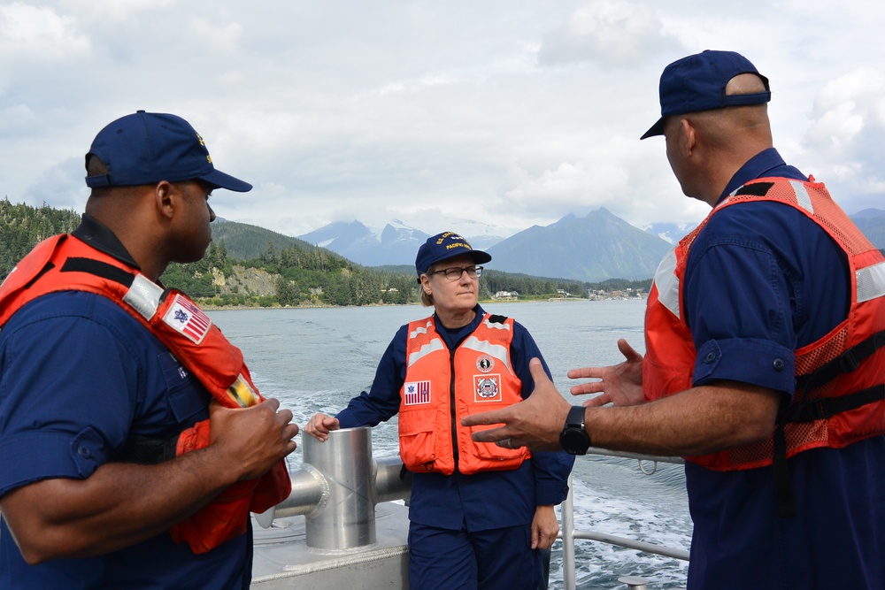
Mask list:
[[[399,405],[399,453],[410,471],[466,475],[519,467],[527,448],[476,442],[461,418],[522,401],[513,372],[513,320],[486,314],[473,333],[450,352],[434,318],[409,324],[406,372]]]

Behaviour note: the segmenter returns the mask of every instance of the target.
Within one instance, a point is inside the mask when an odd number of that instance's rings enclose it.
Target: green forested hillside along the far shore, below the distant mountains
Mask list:
[[[80,217],[75,211],[0,201],[0,280],[38,241],[73,231]],[[223,307],[404,304],[419,300],[410,266],[360,266],[305,241],[230,221],[213,226],[213,236],[203,260],[169,265],[160,278],[166,287],[179,288],[205,305]],[[263,246],[259,248],[259,244]],[[545,299],[562,292],[585,297],[589,290],[597,289],[647,291],[649,283],[586,283],[489,271],[482,275],[480,298],[489,299],[499,291],[517,292],[519,299]]]

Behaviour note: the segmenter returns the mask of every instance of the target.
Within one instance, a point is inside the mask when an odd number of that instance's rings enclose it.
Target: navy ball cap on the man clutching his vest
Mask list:
[[[203,138],[176,115],[137,111],[121,117],[98,132],[86,155],[87,166],[93,155],[107,165],[107,173],[87,176],[88,187],[199,179],[238,193],[252,188],[248,182],[216,170]]]

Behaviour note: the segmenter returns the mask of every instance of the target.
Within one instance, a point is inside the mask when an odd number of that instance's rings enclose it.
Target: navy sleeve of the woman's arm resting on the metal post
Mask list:
[[[405,379],[405,341],[408,325],[402,326],[390,341],[381,362],[375,369],[375,378],[368,392],[362,392],[340,411],[342,428],[375,426],[393,418],[399,411],[400,390]]]

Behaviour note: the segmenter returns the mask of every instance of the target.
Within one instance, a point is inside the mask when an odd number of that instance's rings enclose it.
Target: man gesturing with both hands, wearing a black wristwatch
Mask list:
[[[664,135],[713,211],[658,267],[645,356],[621,340],[624,363],[570,372],[597,379],[573,394],[600,394],[575,416],[535,368],[527,402],[463,423],[504,423],[473,438],[508,446],[581,433],[685,456],[691,590],[881,589],[885,259],[773,149],[770,96],[731,51],[666,67],[643,139]]]

